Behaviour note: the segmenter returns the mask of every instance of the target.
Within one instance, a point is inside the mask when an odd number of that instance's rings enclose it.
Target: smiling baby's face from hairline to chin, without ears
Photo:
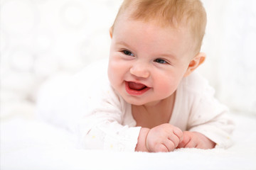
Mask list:
[[[122,16],[112,35],[108,76],[113,88],[134,105],[168,98],[193,58],[185,28],[160,27],[154,21]]]

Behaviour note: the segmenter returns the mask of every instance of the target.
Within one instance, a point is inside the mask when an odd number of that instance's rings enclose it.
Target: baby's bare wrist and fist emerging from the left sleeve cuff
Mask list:
[[[169,123],[151,129],[142,128],[135,151],[171,152],[182,141],[182,138],[182,131]]]

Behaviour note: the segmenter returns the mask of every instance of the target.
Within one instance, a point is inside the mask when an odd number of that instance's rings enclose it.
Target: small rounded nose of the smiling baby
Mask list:
[[[146,64],[134,64],[130,69],[130,73],[136,77],[142,78],[148,78],[150,75],[149,67],[147,67]]]

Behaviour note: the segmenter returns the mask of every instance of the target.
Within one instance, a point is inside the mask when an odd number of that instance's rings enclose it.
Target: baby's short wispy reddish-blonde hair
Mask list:
[[[178,28],[185,22],[195,41],[196,52],[201,50],[206,30],[206,11],[200,0],[124,0],[111,28],[119,16],[129,8],[132,19],[142,21],[158,21],[161,26]]]

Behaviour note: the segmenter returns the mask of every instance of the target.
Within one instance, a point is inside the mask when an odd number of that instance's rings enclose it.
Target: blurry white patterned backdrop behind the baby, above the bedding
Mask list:
[[[32,114],[38,89],[49,77],[107,58],[108,31],[121,3],[2,0],[1,118]],[[256,1],[203,4],[208,26],[202,51],[208,58],[200,72],[232,111],[256,114]]]

